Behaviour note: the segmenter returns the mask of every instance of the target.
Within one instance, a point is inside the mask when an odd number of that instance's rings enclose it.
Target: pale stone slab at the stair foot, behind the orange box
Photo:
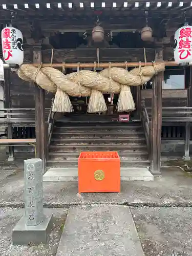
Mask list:
[[[121,181],[153,181],[147,168],[121,167]],[[43,181],[78,181],[78,168],[49,168]]]

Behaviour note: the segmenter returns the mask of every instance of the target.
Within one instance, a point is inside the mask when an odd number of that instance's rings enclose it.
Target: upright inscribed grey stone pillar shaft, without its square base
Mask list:
[[[39,158],[24,161],[25,175],[25,223],[27,226],[36,226],[44,221],[42,160]]]

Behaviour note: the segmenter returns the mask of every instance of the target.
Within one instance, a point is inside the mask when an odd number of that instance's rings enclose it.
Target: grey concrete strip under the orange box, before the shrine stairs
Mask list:
[[[5,170],[4,170],[5,172]],[[0,181],[0,207],[23,207],[23,170],[8,170]],[[121,193],[78,194],[78,183],[44,182],[46,207],[71,204],[125,204],[130,206],[192,206],[192,176],[179,168],[163,168],[154,181],[121,182]]]

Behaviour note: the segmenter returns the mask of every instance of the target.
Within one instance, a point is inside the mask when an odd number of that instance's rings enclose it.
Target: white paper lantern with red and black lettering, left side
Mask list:
[[[13,27],[4,28],[2,30],[2,49],[6,63],[21,65],[24,61],[22,32]]]

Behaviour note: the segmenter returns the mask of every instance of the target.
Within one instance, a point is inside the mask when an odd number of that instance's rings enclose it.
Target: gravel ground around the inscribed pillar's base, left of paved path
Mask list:
[[[68,209],[45,209],[54,215],[54,227],[47,245],[12,245],[12,229],[23,215],[20,208],[0,208],[0,255],[1,256],[55,256],[65,225]]]

